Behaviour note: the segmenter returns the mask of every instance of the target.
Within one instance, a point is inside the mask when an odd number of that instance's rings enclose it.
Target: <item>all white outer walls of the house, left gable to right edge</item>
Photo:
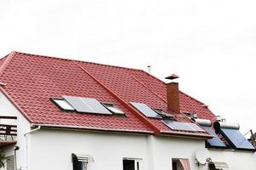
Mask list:
[[[0,115],[17,116],[18,168],[22,170],[72,170],[72,153],[90,154],[95,159],[89,170],[122,170],[123,157],[143,159],[141,170],[172,170],[172,158],[188,158],[191,170],[206,170],[195,164],[195,151],[205,148],[197,139],[181,139],[153,135],[92,133],[85,131],[41,129],[29,134],[30,123],[0,93]],[[26,151],[27,144],[27,151]],[[6,155],[14,154],[13,147],[5,148]],[[210,150],[212,161],[224,161],[232,170],[253,170],[256,156],[252,152]],[[28,159],[26,159],[26,154]]]

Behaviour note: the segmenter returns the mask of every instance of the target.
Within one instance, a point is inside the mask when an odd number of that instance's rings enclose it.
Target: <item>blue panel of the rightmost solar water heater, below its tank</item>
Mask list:
[[[237,129],[220,128],[220,132],[229,140],[236,149],[240,150],[255,150],[251,144]]]

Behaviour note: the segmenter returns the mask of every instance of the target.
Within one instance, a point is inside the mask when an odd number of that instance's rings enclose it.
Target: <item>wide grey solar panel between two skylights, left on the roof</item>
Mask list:
[[[96,99],[80,98],[73,96],[63,96],[63,98],[66,99],[70,105],[73,105],[75,110],[79,112],[107,115],[112,114]]]

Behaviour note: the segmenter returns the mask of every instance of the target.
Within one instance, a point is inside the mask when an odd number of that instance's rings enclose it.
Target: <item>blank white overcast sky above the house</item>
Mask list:
[[[0,0],[0,56],[12,50],[163,77],[241,131],[256,132],[254,0]]]

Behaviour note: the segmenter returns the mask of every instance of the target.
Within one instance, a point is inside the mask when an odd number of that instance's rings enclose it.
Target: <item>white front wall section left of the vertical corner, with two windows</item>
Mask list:
[[[90,170],[121,170],[123,157],[143,158],[148,167],[146,135],[40,130],[31,135],[29,170],[72,170],[72,153],[89,154]]]

